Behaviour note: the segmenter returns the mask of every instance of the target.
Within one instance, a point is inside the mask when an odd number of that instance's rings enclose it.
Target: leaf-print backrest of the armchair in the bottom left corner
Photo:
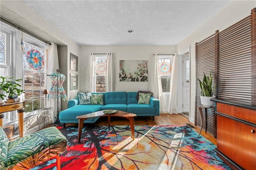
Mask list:
[[[0,169],[1,165],[4,164],[7,158],[7,152],[8,152],[8,143],[9,140],[4,132],[4,130],[0,127]]]

